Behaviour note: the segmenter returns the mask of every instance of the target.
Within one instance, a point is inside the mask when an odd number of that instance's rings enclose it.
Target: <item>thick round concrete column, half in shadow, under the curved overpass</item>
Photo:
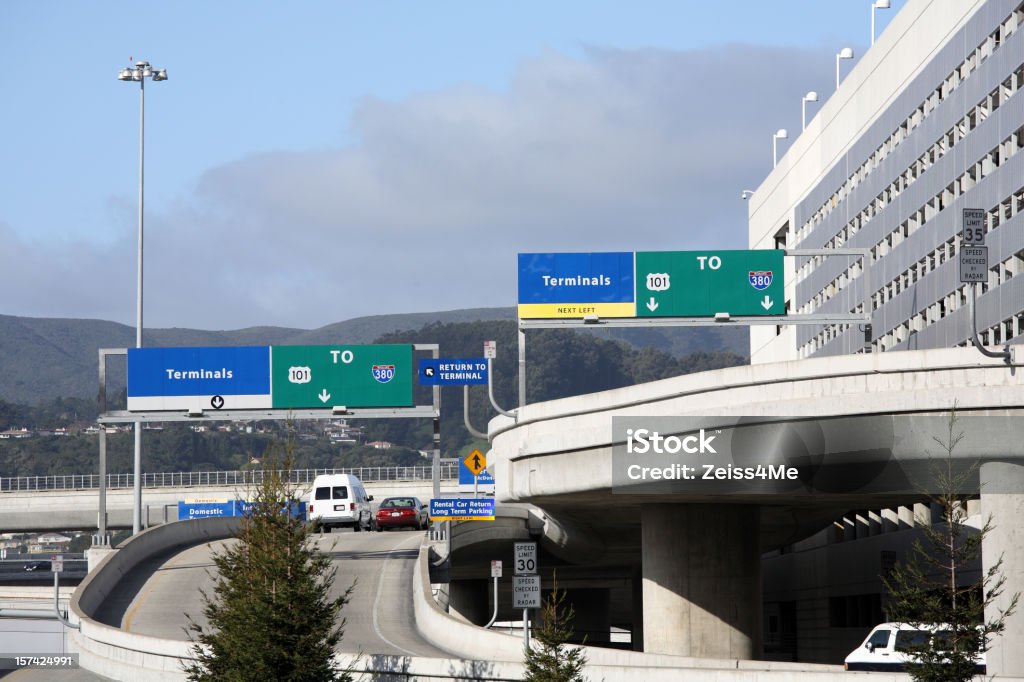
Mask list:
[[[656,504],[641,519],[644,651],[760,655],[760,509]]]

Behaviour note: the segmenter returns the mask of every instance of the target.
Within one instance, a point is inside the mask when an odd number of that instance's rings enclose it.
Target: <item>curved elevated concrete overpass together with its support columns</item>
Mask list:
[[[754,658],[764,655],[763,553],[857,510],[890,510],[898,524],[898,509],[938,492],[927,474],[937,455],[949,455],[939,440],[954,409],[968,433],[950,461],[976,467],[959,492],[980,493],[983,513],[994,514],[984,560],[1004,555],[1007,593],[1024,591],[1024,375],[974,350],[732,368],[526,406],[492,422],[488,459],[499,500],[544,510],[545,558],[559,584],[579,593],[584,629],[628,626],[632,646],[647,652]],[[631,451],[641,428],[662,429],[677,444],[692,436],[692,447]],[[695,452],[698,429],[718,429],[716,445],[730,447]],[[630,473],[634,465],[699,471],[708,462],[795,474],[709,481]],[[1001,641],[1024,641],[1024,616],[1011,620]],[[997,644],[990,672],[1024,674],[1015,648]]]

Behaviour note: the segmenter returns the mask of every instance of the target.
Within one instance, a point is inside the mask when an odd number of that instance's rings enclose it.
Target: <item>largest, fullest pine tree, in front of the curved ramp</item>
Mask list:
[[[313,545],[310,525],[289,513],[298,505],[291,446],[283,462],[271,455],[265,466],[238,542],[214,555],[213,594],[202,593],[208,625],[188,616],[197,658],[185,673],[197,681],[348,682],[350,672],[337,670],[333,655],[344,633],[336,619],[354,583],[330,597],[330,558]]]

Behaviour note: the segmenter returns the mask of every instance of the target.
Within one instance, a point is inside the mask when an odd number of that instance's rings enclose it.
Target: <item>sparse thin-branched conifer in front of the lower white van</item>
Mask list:
[[[945,457],[934,461],[934,489],[929,502],[941,511],[941,522],[922,524],[925,543],[913,543],[909,557],[897,563],[882,580],[889,593],[886,612],[890,621],[941,633],[908,647],[915,663],[908,671],[915,682],[966,682],[975,675],[975,658],[991,646],[992,637],[1005,630],[1007,617],[1017,607],[1015,594],[1006,610],[985,620],[985,607],[1004,590],[1000,556],[973,584],[959,585],[959,574],[981,558],[982,542],[992,529],[991,517],[977,532],[968,530],[967,502],[963,493],[977,475],[977,465],[957,467],[953,451],[964,434],[956,432],[956,415],[948,421],[945,438],[934,437]]]

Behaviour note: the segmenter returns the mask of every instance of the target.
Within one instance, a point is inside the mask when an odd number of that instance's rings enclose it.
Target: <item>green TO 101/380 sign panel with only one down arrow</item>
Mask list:
[[[274,409],[410,408],[413,346],[271,346]]]

